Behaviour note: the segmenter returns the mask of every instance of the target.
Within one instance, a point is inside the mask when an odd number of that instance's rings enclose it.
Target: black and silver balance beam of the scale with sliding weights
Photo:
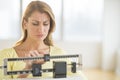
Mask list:
[[[76,65],[82,66],[82,62],[78,61],[72,62],[71,64],[67,64],[66,61],[55,62],[53,61],[53,69],[42,69],[42,64],[32,64],[31,70],[23,70],[23,71],[7,71],[7,62],[11,61],[24,61],[24,60],[39,60],[43,59],[45,62],[50,61],[51,59],[61,59],[61,58],[80,58],[81,56],[78,54],[75,55],[57,55],[57,56],[50,56],[49,54],[45,54],[43,57],[24,57],[24,58],[5,58],[4,59],[4,66],[0,66],[0,69],[4,69],[4,75],[16,75],[16,74],[33,74],[33,76],[41,76],[43,72],[53,72],[54,78],[59,77],[66,77],[67,66],[71,65],[71,72],[76,73]],[[63,71],[62,71],[63,70]]]

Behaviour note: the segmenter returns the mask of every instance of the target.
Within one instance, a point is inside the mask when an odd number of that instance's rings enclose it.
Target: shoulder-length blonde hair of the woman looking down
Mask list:
[[[54,17],[54,14],[53,14],[50,6],[48,4],[46,4],[45,2],[42,2],[42,1],[32,1],[27,6],[26,11],[25,11],[25,13],[23,15],[23,18],[22,18],[23,36],[21,37],[21,40],[16,43],[16,46],[22,44],[26,40],[27,30],[25,30],[23,28],[23,26],[24,26],[23,22],[24,22],[24,20],[28,21],[28,18],[31,16],[31,14],[34,11],[39,11],[41,13],[47,13],[49,15],[49,17],[50,17],[50,30],[48,32],[47,37],[44,39],[44,43],[48,46],[50,46],[50,45],[52,46],[53,45],[52,32],[55,29],[55,17]]]

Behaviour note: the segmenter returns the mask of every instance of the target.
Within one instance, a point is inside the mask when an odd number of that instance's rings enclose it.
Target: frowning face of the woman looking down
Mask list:
[[[43,41],[50,29],[50,17],[47,13],[35,11],[28,18],[28,22],[24,21],[25,29],[29,39]]]

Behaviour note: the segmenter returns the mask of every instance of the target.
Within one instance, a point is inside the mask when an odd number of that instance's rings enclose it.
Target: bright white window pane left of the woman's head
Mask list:
[[[0,39],[16,39],[20,36],[19,3],[19,0],[0,0]]]

